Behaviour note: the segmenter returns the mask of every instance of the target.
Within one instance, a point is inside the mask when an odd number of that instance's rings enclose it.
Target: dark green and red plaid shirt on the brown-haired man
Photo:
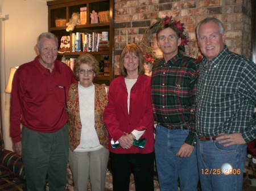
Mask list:
[[[190,124],[185,143],[195,145],[195,93],[199,61],[176,54],[152,67],[151,95],[155,121],[162,124]]]

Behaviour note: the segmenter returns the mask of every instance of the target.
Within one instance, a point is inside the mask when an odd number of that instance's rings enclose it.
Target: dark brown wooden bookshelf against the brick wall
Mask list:
[[[99,62],[104,60],[105,57],[108,57],[109,60],[109,69],[108,75],[104,74],[99,75],[95,82],[96,83],[105,83],[107,85],[112,82],[114,78],[113,70],[113,46],[114,46],[114,0],[56,0],[48,1],[48,31],[55,34],[59,41],[62,36],[70,37],[70,52],[59,53],[57,60],[61,60],[63,55],[66,59],[77,58],[81,54],[89,53],[96,57],[96,60]],[[66,19],[66,22],[69,22],[73,12],[79,12],[80,8],[86,7],[86,24],[76,25],[73,31],[67,32],[66,26],[56,27],[55,20],[57,18]],[[100,12],[109,10],[109,22],[100,23],[91,23],[90,13],[92,11]],[[109,33],[109,50],[98,51],[98,52],[72,52],[72,33]],[[60,43],[59,43],[60,44]]]

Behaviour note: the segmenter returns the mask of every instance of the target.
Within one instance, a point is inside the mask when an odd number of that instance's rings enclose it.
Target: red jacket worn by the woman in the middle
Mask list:
[[[114,153],[150,153],[154,151],[154,117],[151,104],[151,78],[139,75],[137,82],[131,88],[130,113],[127,109],[127,88],[125,77],[118,77],[109,86],[109,103],[105,108],[104,122],[109,131],[109,150]],[[132,146],[123,149],[121,146],[112,148],[114,142],[122,137],[124,132],[130,133],[134,129],[145,130],[141,138],[147,138],[144,148]]]

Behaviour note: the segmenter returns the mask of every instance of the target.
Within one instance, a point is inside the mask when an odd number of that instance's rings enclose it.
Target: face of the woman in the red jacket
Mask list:
[[[134,53],[127,52],[123,59],[123,66],[125,67],[127,74],[138,74],[139,71],[139,57]]]

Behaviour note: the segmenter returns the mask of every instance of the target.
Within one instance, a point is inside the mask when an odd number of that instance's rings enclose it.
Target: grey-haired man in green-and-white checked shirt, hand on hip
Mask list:
[[[242,190],[246,143],[255,139],[256,65],[229,51],[220,20],[197,26],[204,58],[196,90],[201,189]]]

